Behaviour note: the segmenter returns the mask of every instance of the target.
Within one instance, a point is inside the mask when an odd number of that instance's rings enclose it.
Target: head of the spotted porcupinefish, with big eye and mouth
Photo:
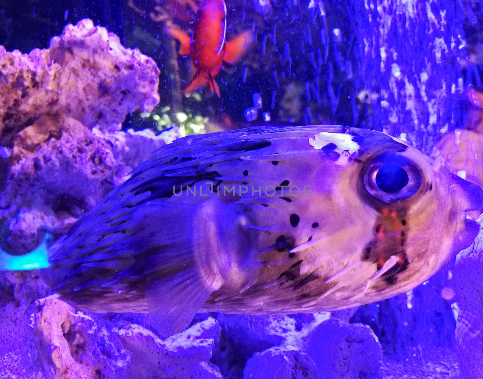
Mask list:
[[[325,176],[314,196],[333,229],[319,247],[342,262],[359,259],[361,282],[369,272],[376,290],[407,291],[476,237],[479,225],[466,212],[481,211],[482,189],[406,142],[349,129],[316,134],[311,145],[322,150],[318,175]]]

